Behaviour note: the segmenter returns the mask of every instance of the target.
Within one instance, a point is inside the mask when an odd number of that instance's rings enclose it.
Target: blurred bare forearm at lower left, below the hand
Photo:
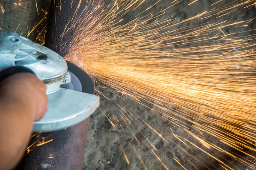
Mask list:
[[[0,170],[14,168],[23,155],[33,127],[34,110],[8,96],[0,98]]]

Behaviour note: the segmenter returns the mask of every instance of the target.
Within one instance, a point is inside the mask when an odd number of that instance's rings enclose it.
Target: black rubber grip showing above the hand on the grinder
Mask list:
[[[32,71],[31,69],[26,68],[24,66],[17,65],[17,66],[6,68],[5,70],[1,71],[0,72],[0,82],[2,82],[7,77],[10,77],[10,76],[12,76],[14,74],[17,74],[17,73],[35,74],[34,71]]]

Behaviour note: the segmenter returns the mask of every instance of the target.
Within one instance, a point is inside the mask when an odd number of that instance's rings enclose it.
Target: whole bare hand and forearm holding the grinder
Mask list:
[[[31,137],[33,121],[47,111],[47,100],[46,86],[34,74],[17,73],[0,83],[0,169],[17,165]]]

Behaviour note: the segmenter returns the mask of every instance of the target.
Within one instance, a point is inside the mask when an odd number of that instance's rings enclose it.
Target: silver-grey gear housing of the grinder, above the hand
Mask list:
[[[67,73],[67,63],[59,54],[15,32],[0,31],[0,42],[1,60],[14,59],[12,64],[30,68],[45,84],[60,81]],[[9,66],[1,62],[0,70]]]

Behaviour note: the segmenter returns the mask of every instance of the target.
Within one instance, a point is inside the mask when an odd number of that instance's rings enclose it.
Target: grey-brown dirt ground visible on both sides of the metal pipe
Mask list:
[[[132,20],[134,16],[139,14],[148,6],[156,3],[156,1],[157,0],[148,0],[145,3],[145,6],[142,6],[142,8],[137,8],[136,11],[126,14],[124,16],[124,22]],[[155,10],[157,10],[157,8],[166,8],[170,6],[171,2],[172,1],[170,0],[162,0],[161,3],[158,3],[156,6],[148,10],[148,12],[153,13]],[[188,0],[183,0],[183,2],[186,3]],[[180,6],[175,11],[171,11],[171,13],[175,13],[175,17],[177,19],[176,22],[180,22],[201,12],[209,11],[212,8],[211,4],[215,2],[217,2],[217,0],[198,0],[196,3],[193,3],[190,6]],[[227,0],[224,3],[227,4],[228,2],[230,1]],[[44,14],[41,9],[43,8],[44,10],[49,11],[50,0],[37,0],[39,12],[36,10],[35,1],[21,0],[21,6],[15,5],[14,3],[18,4],[19,1],[8,0],[7,2],[2,0],[2,4],[4,5],[6,11],[3,14],[1,28],[9,31],[15,31],[17,29],[17,33],[26,35],[28,34],[28,28],[31,30],[34,24],[38,21],[38,18]],[[107,3],[109,2],[107,1]],[[244,8],[239,8],[239,10],[236,10],[230,14],[227,20],[239,21],[256,16],[256,12],[252,9],[241,16],[244,12]],[[166,13],[165,15],[168,14],[170,13]],[[216,21],[215,18],[209,18],[208,20],[210,23]],[[43,28],[46,23],[47,20],[44,20],[40,27]],[[195,23],[189,24],[192,26]],[[249,26],[244,29],[252,30],[255,28],[255,22],[252,21],[249,23]],[[238,28],[230,28],[229,30],[224,31],[235,32],[237,31],[236,29]],[[244,34],[253,34],[253,32],[247,32]],[[29,38],[35,40],[35,37],[37,36],[38,33],[33,32]],[[172,133],[170,133],[169,130],[171,127],[168,122],[154,116],[154,112],[152,111],[154,110],[154,107],[149,106],[151,109],[148,109],[148,113],[146,113],[130,99],[121,99],[113,93],[105,91],[99,85],[96,86],[96,89],[102,91],[103,94],[110,99],[107,100],[104,97],[101,98],[101,106],[106,113],[116,115],[122,112],[121,108],[118,108],[113,104],[116,102],[119,105],[122,105],[122,107],[127,108],[131,113],[138,115],[139,118],[136,120],[137,128],[131,129],[130,131],[125,129],[125,125],[123,125],[123,130],[125,133],[122,134],[117,128],[111,125],[107,117],[102,113],[102,111],[100,111],[100,109],[93,113],[93,115],[90,117],[90,127],[87,136],[87,147],[84,153],[83,170],[140,170],[145,169],[145,167],[148,170],[165,169],[165,167],[148,147],[149,142],[151,142],[157,149],[155,154],[159,156],[159,158],[170,170],[182,170],[182,166],[188,170],[201,170],[206,169],[207,167],[212,170],[218,168],[221,169],[218,161],[215,161],[211,157],[207,156],[207,154],[203,154],[200,150],[191,149],[187,150],[188,154],[184,154],[182,150],[185,147],[171,135]],[[166,139],[168,139],[168,142],[161,139],[160,136],[158,136],[157,133],[155,133],[151,128],[146,126],[142,120],[149,122],[149,124],[159,132],[166,132],[165,134],[169,133],[169,135],[165,136]],[[179,136],[184,135],[183,132],[179,131],[178,129],[176,129],[175,133]],[[127,137],[124,138],[123,135],[126,135]],[[136,136],[136,139],[134,136]],[[205,138],[211,139],[210,136],[205,136]],[[198,147],[202,146],[198,145]],[[225,158],[223,153],[218,153],[214,150],[210,150],[209,152],[218,158]],[[180,164],[178,164],[174,158],[179,160]],[[196,161],[196,159],[200,159],[205,166],[201,165],[202,162],[200,163]],[[228,162],[232,160],[228,160],[227,158],[226,161]],[[233,163],[236,164],[236,162]],[[245,167],[237,164],[237,169],[244,168]]]

